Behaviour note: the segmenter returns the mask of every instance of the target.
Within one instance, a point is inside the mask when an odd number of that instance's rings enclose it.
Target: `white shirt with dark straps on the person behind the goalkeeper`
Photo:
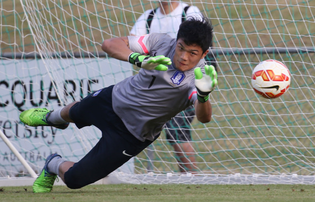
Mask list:
[[[179,3],[179,5],[167,15],[163,15],[161,13],[161,8],[158,7],[151,22],[150,33],[167,33],[172,38],[176,38],[179,25],[182,23],[183,11],[186,6],[188,6],[187,3]],[[130,34],[136,36],[148,34],[146,24],[147,18],[151,12],[152,10],[147,10],[138,18],[131,29]],[[186,12],[186,16],[201,18],[202,13],[196,6],[190,6]]]

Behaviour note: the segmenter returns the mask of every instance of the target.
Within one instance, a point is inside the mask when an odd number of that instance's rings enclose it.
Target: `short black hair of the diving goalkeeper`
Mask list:
[[[185,44],[198,45],[203,53],[209,49],[212,42],[213,27],[208,18],[189,17],[179,26],[177,39],[182,39]]]

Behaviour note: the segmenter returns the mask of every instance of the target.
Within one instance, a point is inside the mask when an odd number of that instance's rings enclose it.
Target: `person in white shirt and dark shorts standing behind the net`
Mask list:
[[[159,1],[159,6],[156,9],[145,11],[137,19],[130,31],[130,35],[141,36],[150,33],[166,33],[176,38],[179,25],[187,17],[202,19],[203,14],[198,7],[189,6],[187,3],[172,0]],[[194,117],[195,110],[191,105],[168,121],[165,128],[166,138],[176,153],[179,170],[183,173],[196,173],[198,170],[195,158],[196,152],[190,143],[190,127]],[[147,155],[149,158],[153,158],[153,153],[149,151]],[[148,169],[153,169],[150,162]]]

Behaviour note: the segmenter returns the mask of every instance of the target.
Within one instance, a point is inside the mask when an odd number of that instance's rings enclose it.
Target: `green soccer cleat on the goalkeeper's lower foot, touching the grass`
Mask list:
[[[51,191],[52,185],[54,185],[54,182],[57,178],[57,175],[55,175],[54,173],[48,172],[47,165],[51,161],[51,159],[53,159],[56,156],[60,156],[60,155],[58,155],[57,153],[53,153],[47,157],[46,162],[45,162],[45,166],[44,166],[41,174],[36,178],[36,180],[33,184],[33,192],[34,193],[45,193],[45,192]]]

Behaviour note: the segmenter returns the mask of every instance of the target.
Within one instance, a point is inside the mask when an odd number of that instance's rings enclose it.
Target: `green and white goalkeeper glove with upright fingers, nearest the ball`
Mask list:
[[[200,67],[195,68],[195,86],[197,88],[197,98],[201,102],[209,100],[209,94],[218,84],[218,75],[216,69],[210,65],[205,65],[205,75]]]

